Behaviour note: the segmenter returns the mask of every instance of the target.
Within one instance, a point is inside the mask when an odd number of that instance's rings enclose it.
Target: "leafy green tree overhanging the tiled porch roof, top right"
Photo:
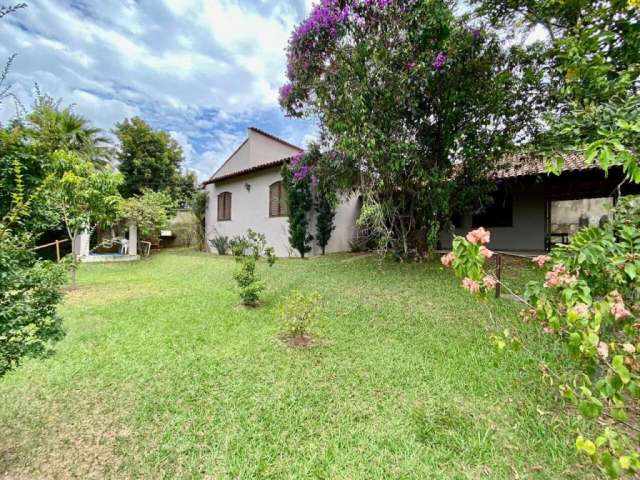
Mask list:
[[[488,0],[472,2],[503,32],[542,25],[545,76],[554,108],[538,145],[560,171],[564,151],[582,151],[605,170],[622,166],[640,182],[640,2]],[[555,168],[553,168],[555,167]]]

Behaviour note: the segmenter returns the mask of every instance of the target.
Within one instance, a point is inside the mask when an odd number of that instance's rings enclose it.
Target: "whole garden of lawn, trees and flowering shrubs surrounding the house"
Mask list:
[[[319,122],[281,171],[295,259],[212,237],[167,132],[106,138],[37,85],[22,105],[9,58],[0,476],[635,478],[640,201],[620,192],[640,183],[640,2],[321,0],[286,54],[280,106]],[[486,225],[440,257],[522,152],[615,169],[607,220],[507,275]],[[354,193],[364,252],[305,258]],[[153,240],[178,209],[195,249],[35,253],[123,222]]]

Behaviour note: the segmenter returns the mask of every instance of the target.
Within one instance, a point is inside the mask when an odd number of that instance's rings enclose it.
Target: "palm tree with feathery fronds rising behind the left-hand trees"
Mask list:
[[[77,152],[97,165],[105,165],[111,159],[109,139],[85,117],[74,113],[71,106],[62,109],[59,101],[38,92],[26,119],[31,138],[49,152]]]

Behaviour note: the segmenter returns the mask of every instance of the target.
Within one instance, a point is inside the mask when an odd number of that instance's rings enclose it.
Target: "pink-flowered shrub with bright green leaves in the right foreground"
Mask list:
[[[569,245],[535,257],[544,281],[527,286],[525,317],[537,318],[548,334],[557,335],[575,362],[552,371],[536,352],[527,351],[560,394],[600,432],[583,433],[575,446],[611,478],[640,472],[637,418],[640,398],[640,198],[623,199],[611,221],[586,227]],[[443,256],[462,287],[486,299],[499,280],[490,272],[490,233],[482,228],[457,237]],[[501,282],[509,289],[508,285]],[[500,349],[523,346],[517,335],[495,332]],[[524,345],[524,348],[527,348]]]

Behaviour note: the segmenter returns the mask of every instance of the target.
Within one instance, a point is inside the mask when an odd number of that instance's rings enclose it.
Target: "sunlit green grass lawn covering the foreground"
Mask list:
[[[0,380],[0,478],[591,478],[573,415],[439,264],[283,260],[245,309],[230,258],[85,265],[46,360]],[[316,343],[278,339],[294,288]],[[517,306],[490,304],[501,328]],[[529,344],[558,360],[533,326]]]

